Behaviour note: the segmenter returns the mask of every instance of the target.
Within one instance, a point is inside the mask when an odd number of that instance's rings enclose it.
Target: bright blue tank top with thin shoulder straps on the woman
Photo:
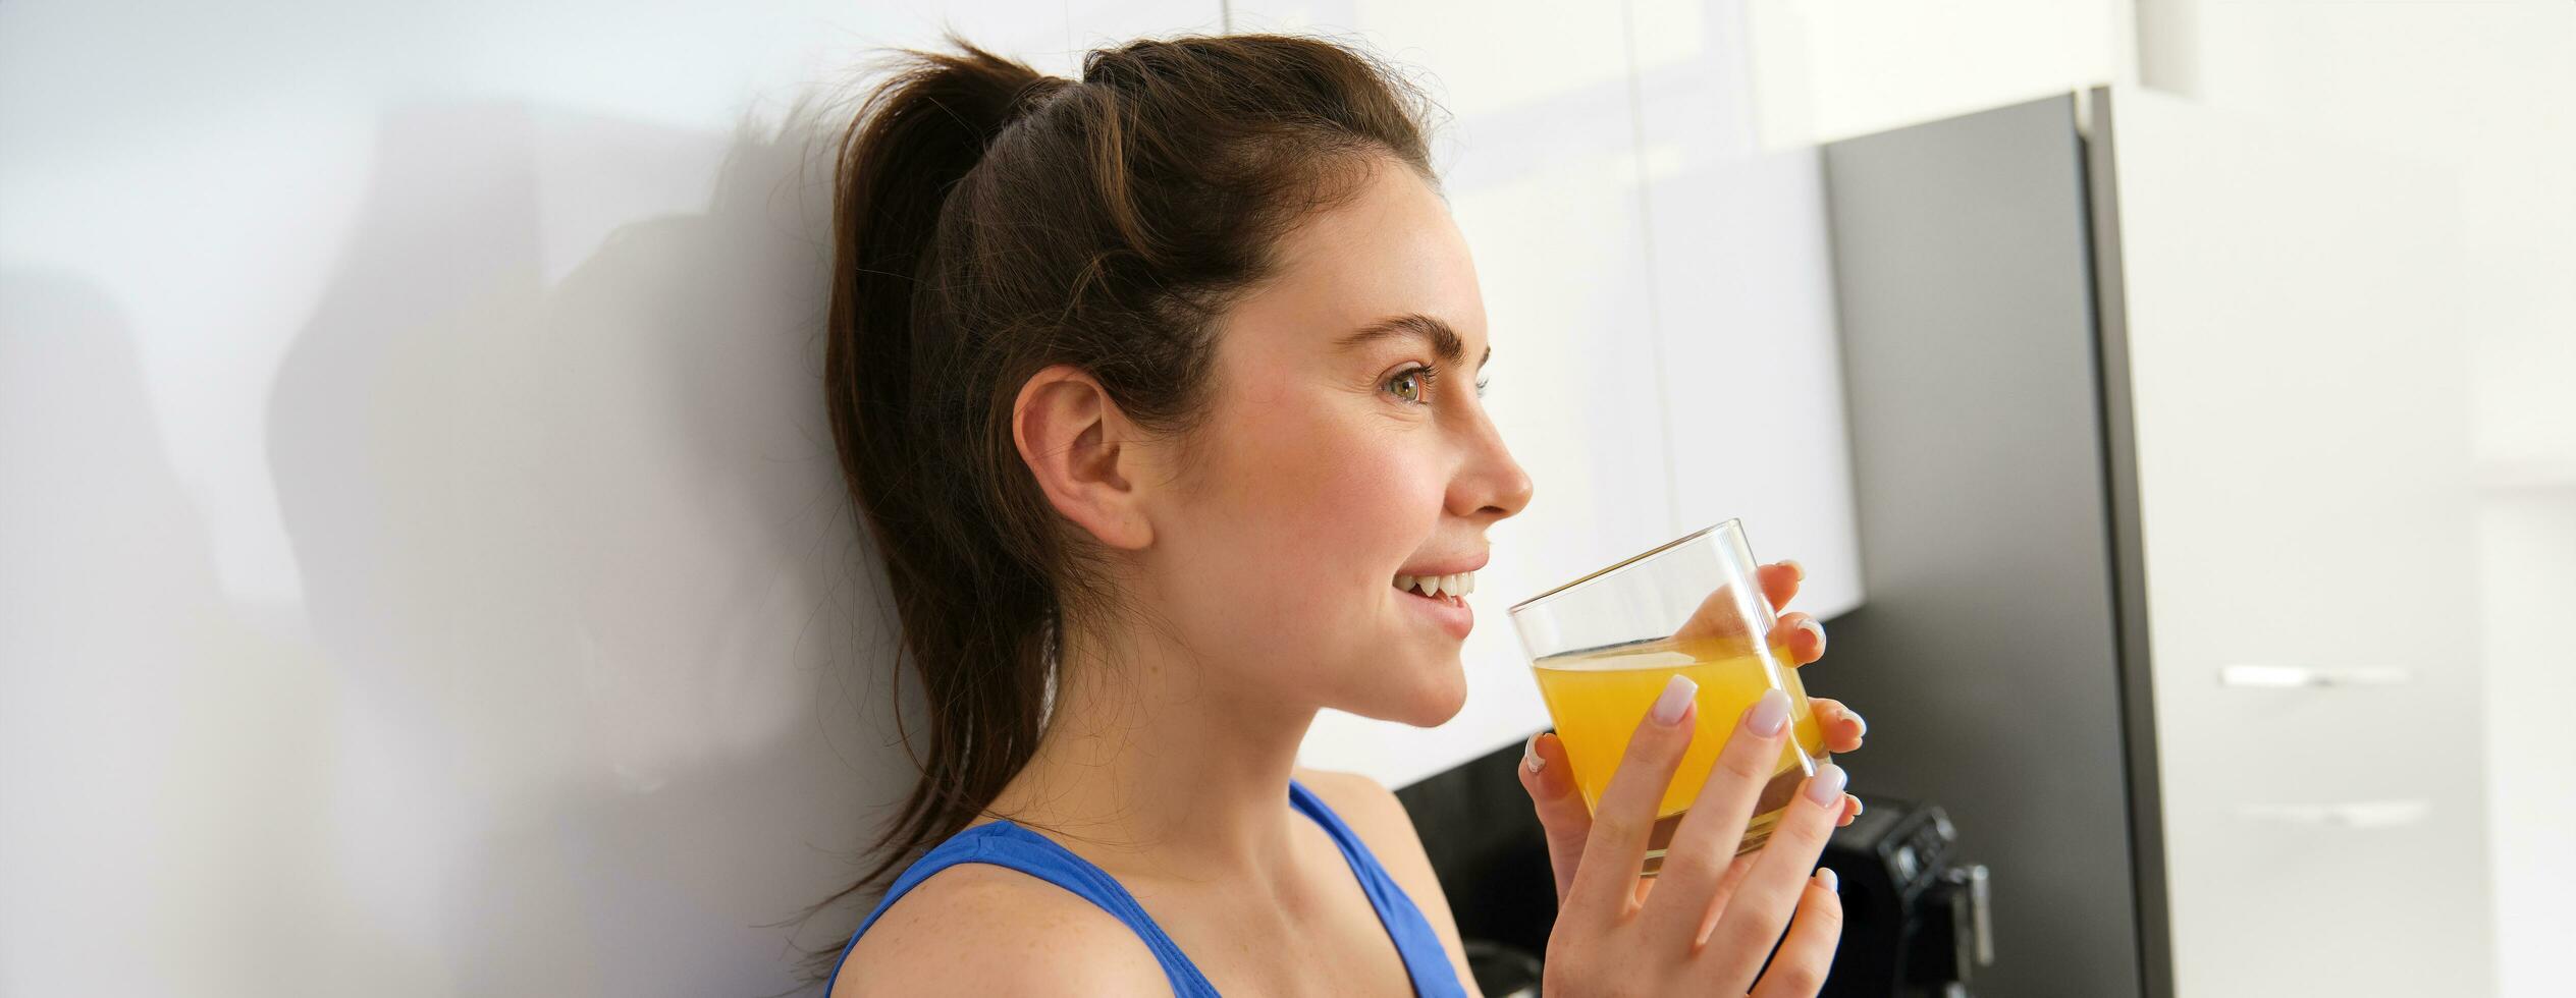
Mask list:
[[[1368,903],[1378,908],[1378,921],[1386,923],[1386,934],[1396,941],[1396,954],[1404,957],[1404,970],[1414,977],[1414,995],[1463,998],[1466,988],[1458,985],[1458,970],[1450,965],[1448,949],[1440,947],[1440,934],[1435,934],[1432,923],[1422,918],[1422,908],[1414,908],[1414,900],[1404,895],[1404,887],[1396,887],[1396,880],[1386,875],[1378,857],[1360,844],[1360,836],[1342,823],[1342,815],[1324,808],[1324,800],[1296,779],[1288,779],[1288,803],[1324,826],[1324,833],[1332,836],[1334,846],[1342,846],[1342,859],[1347,859],[1350,872],[1360,877],[1360,890],[1368,893]],[[1144,936],[1146,949],[1151,949],[1154,959],[1162,965],[1162,975],[1172,980],[1175,995],[1216,995],[1208,977],[1190,965],[1190,957],[1172,944],[1172,936],[1162,934],[1162,926],[1144,913],[1136,898],[1128,895],[1115,877],[1092,867],[1090,859],[1077,857],[1072,849],[1059,846],[1054,839],[1020,828],[1010,818],[948,836],[948,841],[904,867],[904,872],[894,877],[894,885],[886,887],[886,898],[868,913],[868,921],[860,921],[858,931],[850,934],[850,941],[840,947],[840,959],[850,959],[850,947],[858,947],[858,936],[866,936],[868,926],[873,926],[886,908],[902,900],[904,893],[920,887],[920,882],[930,880],[930,875],[961,862],[1010,867],[1087,898]],[[832,993],[835,983],[840,983],[840,965],[832,967],[832,980],[824,983],[824,995]]]

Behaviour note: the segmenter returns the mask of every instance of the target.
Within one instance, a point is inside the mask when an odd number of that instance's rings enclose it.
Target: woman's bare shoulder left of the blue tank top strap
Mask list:
[[[966,862],[922,880],[858,936],[832,998],[1157,990],[1170,980],[1123,921],[1046,880]]]

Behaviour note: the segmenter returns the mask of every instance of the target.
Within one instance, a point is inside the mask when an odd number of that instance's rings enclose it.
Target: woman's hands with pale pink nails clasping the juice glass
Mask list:
[[[1785,561],[1762,566],[1759,576],[1777,607],[1798,592],[1803,574],[1798,563]],[[1803,666],[1824,653],[1824,628],[1814,617],[1785,612],[1777,620],[1790,630],[1788,648],[1795,664]],[[1829,751],[1860,748],[1865,733],[1860,715],[1834,700],[1808,702]],[[1551,993],[1566,993],[1561,988],[1582,993],[1610,980],[1649,983],[1656,993],[1667,988],[1747,993],[1793,905],[1798,921],[1772,957],[1757,995],[1808,995],[1824,980],[1842,905],[1834,898],[1832,872],[1819,877],[1806,872],[1816,867],[1832,828],[1860,813],[1860,800],[1842,792],[1842,769],[1826,767],[1788,805],[1765,849],[1734,857],[1754,797],[1788,738],[1788,723],[1765,736],[1747,728],[1749,720],[1757,720],[1754,710],[1739,718],[1700,797],[1674,831],[1662,875],[1651,880],[1638,877],[1646,833],[1690,746],[1698,705],[1687,705],[1669,725],[1654,723],[1651,715],[1638,723],[1628,756],[1602,792],[1600,821],[1584,810],[1574,790],[1564,743],[1553,733],[1530,738],[1530,761],[1522,764],[1520,782],[1548,831],[1558,898],[1556,934],[1548,939]]]

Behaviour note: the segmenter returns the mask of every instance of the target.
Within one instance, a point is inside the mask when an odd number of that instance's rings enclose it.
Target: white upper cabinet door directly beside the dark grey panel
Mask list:
[[[1682,530],[1744,517],[1798,558],[1795,610],[1860,604],[1852,432],[1816,147],[1754,141],[1752,51],[1731,5],[1631,5],[1638,193]],[[1832,694],[1832,669],[1816,694]]]

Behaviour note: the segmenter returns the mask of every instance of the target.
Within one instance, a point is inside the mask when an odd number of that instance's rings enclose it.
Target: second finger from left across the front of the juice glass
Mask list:
[[[1659,903],[1646,908],[1646,931],[1662,936],[1667,947],[1687,949],[1700,936],[1718,880],[1744,844],[1744,826],[1762,800],[1762,787],[1780,772],[1780,743],[1788,738],[1788,692],[1765,689],[1762,700],[1736,718],[1718,748],[1718,761],[1708,767],[1708,782],[1674,828],[1664,849]]]

